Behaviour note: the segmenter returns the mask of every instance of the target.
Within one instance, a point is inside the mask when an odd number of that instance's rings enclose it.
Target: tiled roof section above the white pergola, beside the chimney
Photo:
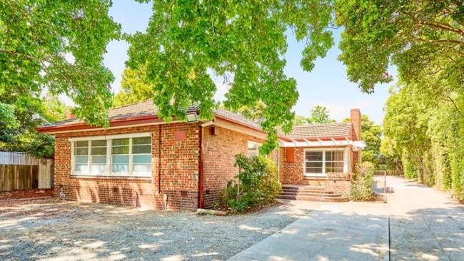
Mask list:
[[[327,123],[293,126],[293,131],[287,138],[323,138],[323,137],[348,137],[351,123]]]

